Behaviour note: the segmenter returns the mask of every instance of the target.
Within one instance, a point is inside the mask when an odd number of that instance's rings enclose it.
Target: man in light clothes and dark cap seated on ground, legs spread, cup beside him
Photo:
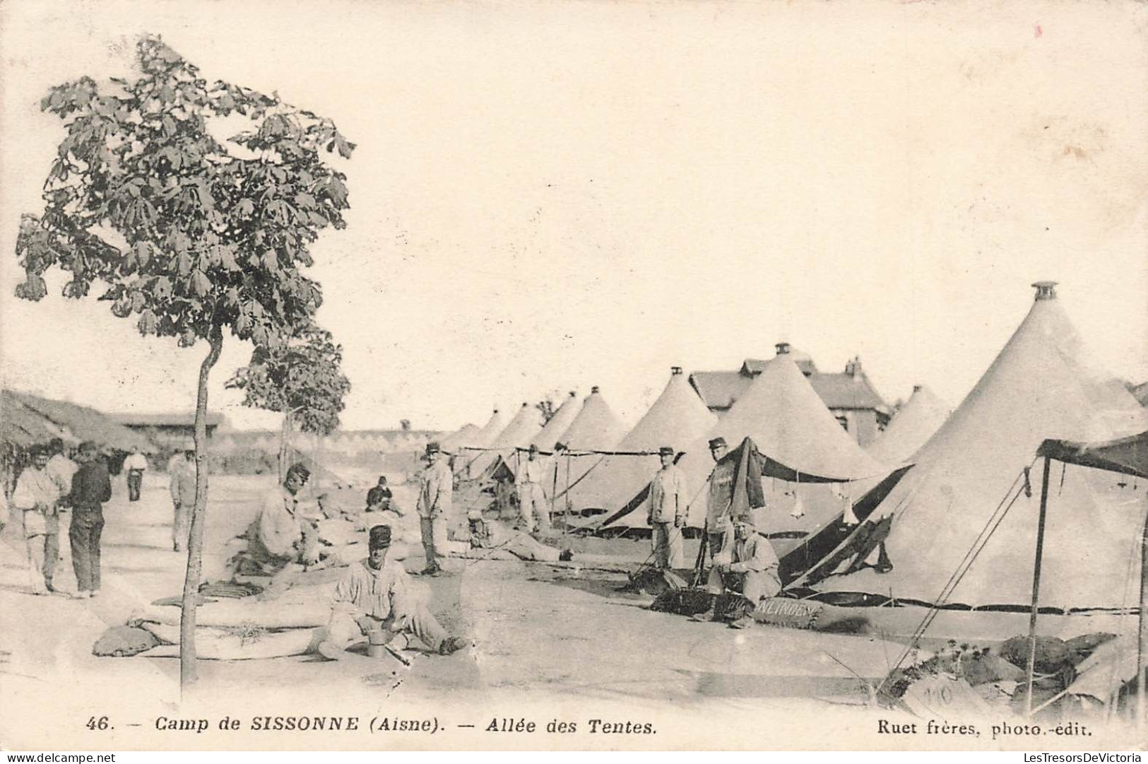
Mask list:
[[[339,661],[348,647],[371,632],[414,635],[439,655],[465,647],[450,636],[427,607],[411,592],[402,565],[387,561],[390,526],[371,528],[370,556],[351,565],[335,586],[327,638],[316,648],[319,655]]]

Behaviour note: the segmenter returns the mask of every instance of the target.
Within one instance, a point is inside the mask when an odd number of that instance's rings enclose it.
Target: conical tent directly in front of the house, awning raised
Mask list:
[[[770,472],[778,477],[765,480],[768,509],[759,526],[775,538],[800,538],[860,496],[850,485],[830,484],[889,472],[841,429],[788,353],[766,362],[718,425],[687,448],[678,466],[687,485],[697,486],[691,491],[700,491],[713,469],[707,441],[716,437],[724,438],[730,448],[751,438],[778,468]],[[700,494],[690,507],[690,525],[700,527],[705,511]]]

